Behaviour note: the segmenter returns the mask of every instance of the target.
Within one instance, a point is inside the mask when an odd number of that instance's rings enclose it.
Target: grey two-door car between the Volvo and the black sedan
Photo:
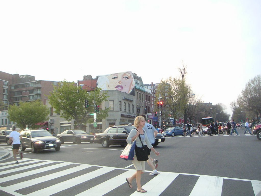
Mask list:
[[[81,142],[90,142],[93,143],[94,135],[90,135],[83,130],[80,129],[70,129],[63,131],[60,134],[57,134],[57,137],[60,139],[61,143],[64,142],[73,142],[73,143],[81,143]]]

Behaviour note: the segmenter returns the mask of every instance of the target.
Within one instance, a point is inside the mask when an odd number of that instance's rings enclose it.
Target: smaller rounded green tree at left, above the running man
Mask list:
[[[31,102],[20,102],[19,106],[10,105],[8,108],[8,118],[16,122],[17,126],[25,129],[38,128],[36,124],[48,120],[49,109],[40,100]]]

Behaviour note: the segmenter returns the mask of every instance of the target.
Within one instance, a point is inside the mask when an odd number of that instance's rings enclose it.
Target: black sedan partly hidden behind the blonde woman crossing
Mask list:
[[[110,145],[127,145],[127,137],[132,129],[134,129],[131,123],[128,125],[118,125],[107,128],[103,133],[95,134],[94,143],[102,144],[102,147],[107,148]],[[165,137],[158,133],[155,141],[155,146],[160,142],[164,142]]]

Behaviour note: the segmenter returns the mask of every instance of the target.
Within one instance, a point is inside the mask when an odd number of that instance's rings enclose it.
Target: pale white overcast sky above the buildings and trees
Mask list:
[[[261,1],[0,1],[0,71],[37,80],[132,71],[179,75],[204,102],[230,102],[261,74]],[[212,89],[212,90],[211,90]]]

